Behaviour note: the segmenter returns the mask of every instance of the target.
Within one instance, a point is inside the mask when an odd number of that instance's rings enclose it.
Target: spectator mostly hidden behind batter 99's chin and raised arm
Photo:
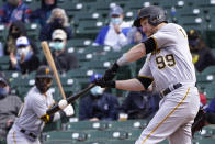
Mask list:
[[[132,27],[127,33],[127,43],[128,44],[139,44],[144,40],[146,40],[145,33],[140,27]]]

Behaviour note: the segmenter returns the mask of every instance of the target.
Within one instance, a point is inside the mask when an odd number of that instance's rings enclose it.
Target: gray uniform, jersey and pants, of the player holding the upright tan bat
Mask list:
[[[46,114],[47,109],[53,104],[50,90],[42,95],[36,87],[33,87],[25,97],[20,115],[9,131],[8,144],[39,144],[38,135],[45,125],[39,118]],[[54,119],[60,119],[59,112],[55,113]]]

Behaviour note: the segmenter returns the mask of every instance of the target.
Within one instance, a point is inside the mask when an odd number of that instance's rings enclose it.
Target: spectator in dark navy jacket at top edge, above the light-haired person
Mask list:
[[[31,22],[36,22],[43,27],[47,19],[50,16],[53,9],[57,8],[57,0],[42,0],[41,8],[33,11],[30,15]]]

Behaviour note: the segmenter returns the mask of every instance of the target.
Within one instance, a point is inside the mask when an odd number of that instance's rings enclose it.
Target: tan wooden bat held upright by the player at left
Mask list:
[[[64,89],[63,89],[63,86],[61,86],[61,82],[60,82],[60,79],[59,79],[59,75],[58,75],[58,73],[57,73],[57,68],[56,68],[56,66],[55,66],[55,62],[54,62],[54,59],[53,59],[53,55],[52,55],[52,53],[50,53],[49,46],[48,46],[48,44],[47,44],[46,41],[43,41],[43,42],[41,43],[41,46],[42,46],[43,52],[44,52],[44,54],[45,54],[45,57],[46,57],[46,59],[47,59],[47,62],[48,62],[48,65],[49,65],[49,66],[52,67],[52,69],[53,69],[54,77],[55,77],[55,79],[57,80],[57,85],[58,85],[58,88],[59,88],[60,93],[61,93],[61,96],[63,96],[63,99],[66,99],[66,95],[65,95],[65,91],[64,91]]]

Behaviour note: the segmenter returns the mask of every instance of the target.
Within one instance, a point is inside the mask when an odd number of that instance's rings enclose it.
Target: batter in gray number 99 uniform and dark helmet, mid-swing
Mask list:
[[[145,90],[151,82],[162,99],[159,110],[135,144],[157,144],[165,139],[170,144],[191,144],[191,125],[200,108],[195,87],[195,70],[185,31],[168,23],[159,7],[138,11],[134,25],[142,26],[148,38],[124,54],[104,77],[94,82],[101,87]],[[120,66],[147,55],[137,78],[112,81]]]

